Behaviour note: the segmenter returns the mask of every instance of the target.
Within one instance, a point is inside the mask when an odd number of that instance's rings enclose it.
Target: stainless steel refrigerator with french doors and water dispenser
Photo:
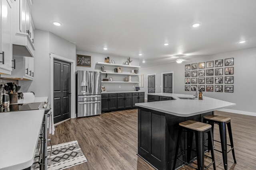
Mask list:
[[[76,72],[77,117],[101,114],[101,73],[95,71]]]

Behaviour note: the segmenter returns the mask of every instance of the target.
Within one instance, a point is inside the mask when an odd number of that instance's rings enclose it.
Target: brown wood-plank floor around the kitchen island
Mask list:
[[[226,112],[216,115],[231,117],[237,164],[228,154],[230,170],[256,169],[256,117]],[[99,116],[70,119],[55,127],[49,136],[52,144],[78,141],[88,162],[70,170],[153,170],[137,153],[137,109],[104,113]],[[215,125],[214,137],[219,140]],[[228,141],[229,142],[229,141]],[[219,149],[220,145],[214,143]],[[222,155],[215,152],[217,170],[222,170]],[[210,163],[205,158],[205,165]],[[196,163],[196,161],[195,161]],[[213,168],[208,168],[212,170]],[[180,170],[190,170],[184,166]]]

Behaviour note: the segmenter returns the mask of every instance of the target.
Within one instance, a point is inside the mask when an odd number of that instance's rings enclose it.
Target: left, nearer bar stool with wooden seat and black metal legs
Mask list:
[[[184,162],[185,164],[191,166],[192,168],[195,168],[197,170],[205,170],[209,166],[213,165],[214,170],[216,170],[216,165],[215,165],[215,158],[214,158],[214,149],[213,149],[213,141],[212,141],[212,129],[211,125],[198,122],[198,121],[193,121],[193,120],[188,120],[184,121],[182,123],[179,123],[179,132],[178,132],[178,139],[177,139],[177,144],[176,144],[176,150],[175,150],[175,157],[174,157],[174,166],[173,170],[175,170],[176,166],[176,161],[177,159]],[[179,150],[179,145],[180,145],[180,139],[182,135],[182,130],[185,129],[189,133],[189,140],[188,140],[188,149],[187,149],[187,161],[181,160],[178,156],[182,152],[185,152],[186,150],[178,153]],[[197,168],[190,165],[190,156],[191,156],[191,150],[192,150],[192,142],[193,142],[193,135],[196,135],[196,157],[197,157]],[[208,144],[208,149],[211,151],[211,156],[209,158],[212,158],[212,163],[208,165],[206,168],[204,168],[204,133],[208,134],[208,138],[210,143]],[[208,156],[207,156],[208,157]]]

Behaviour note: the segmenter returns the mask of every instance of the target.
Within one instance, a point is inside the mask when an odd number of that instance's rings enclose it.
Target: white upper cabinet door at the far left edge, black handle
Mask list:
[[[0,74],[12,71],[12,2],[0,1]]]

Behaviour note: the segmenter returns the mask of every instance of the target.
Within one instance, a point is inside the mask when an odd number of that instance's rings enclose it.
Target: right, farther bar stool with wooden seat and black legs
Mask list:
[[[215,123],[219,125],[220,141],[216,141],[216,140],[214,140],[214,141],[221,143],[222,151],[217,150],[217,149],[214,149],[214,150],[222,153],[223,165],[224,165],[225,170],[228,169],[228,152],[230,152],[231,150],[232,150],[232,154],[233,154],[234,163],[236,164],[236,157],[235,157],[235,150],[234,150],[234,143],[233,143],[230,119],[231,119],[230,117],[223,117],[223,116],[217,116],[217,115],[206,115],[206,116],[204,116],[204,120],[203,120],[204,123],[207,123],[207,121],[208,121],[208,124],[212,125],[212,131],[214,129]],[[228,135],[229,135],[230,145],[227,144],[226,125],[228,127]],[[227,149],[227,145],[231,147],[230,150]]]

